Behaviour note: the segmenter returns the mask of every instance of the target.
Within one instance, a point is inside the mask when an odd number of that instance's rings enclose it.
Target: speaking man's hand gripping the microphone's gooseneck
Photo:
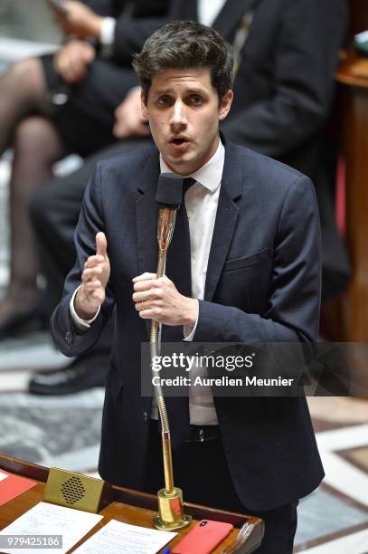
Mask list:
[[[195,325],[197,302],[180,294],[168,277],[156,279],[155,273],[143,273],[133,282],[133,301],[143,320],[156,320],[164,325]]]

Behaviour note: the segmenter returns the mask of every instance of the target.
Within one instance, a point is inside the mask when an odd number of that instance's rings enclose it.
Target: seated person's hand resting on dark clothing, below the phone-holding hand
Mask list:
[[[78,83],[86,78],[88,66],[95,57],[93,46],[84,41],[73,40],[54,55],[53,66],[65,81]]]

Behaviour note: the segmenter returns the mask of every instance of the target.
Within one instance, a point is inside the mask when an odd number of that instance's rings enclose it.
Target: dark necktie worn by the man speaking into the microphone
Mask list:
[[[165,274],[176,289],[184,296],[192,296],[192,272],[191,272],[191,240],[189,234],[189,222],[186,214],[184,195],[190,186],[195,183],[192,177],[185,178],[183,183],[183,202],[176,212],[175,231],[167,252]],[[178,353],[183,351],[184,334],[183,326],[163,325],[161,332],[162,342],[177,342]],[[180,344],[181,343],[181,344]],[[165,354],[162,351],[162,354]],[[179,374],[188,377],[184,368],[179,369]],[[174,376],[173,376],[174,377]],[[165,390],[165,388],[164,388]],[[185,394],[186,392],[186,394]],[[178,448],[184,443],[189,431],[189,398],[188,391],[185,396],[167,396],[173,394],[173,387],[167,387],[165,404],[169,418],[171,440],[173,448]]]

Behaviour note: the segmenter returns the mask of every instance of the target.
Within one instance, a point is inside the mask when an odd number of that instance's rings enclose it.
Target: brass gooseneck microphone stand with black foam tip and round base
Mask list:
[[[156,270],[157,279],[159,279],[165,274],[166,254],[174,234],[176,210],[184,201],[183,177],[175,173],[162,173],[157,184],[156,201],[160,205],[157,223],[159,253]],[[150,333],[151,360],[159,356],[159,350],[158,322],[152,320]],[[165,488],[157,492],[158,513],[154,516],[154,525],[159,530],[177,530],[189,525],[192,518],[184,514],[183,492],[174,486],[170,426],[165,406],[165,396],[160,384],[155,385],[154,389],[161,419],[165,473]]]

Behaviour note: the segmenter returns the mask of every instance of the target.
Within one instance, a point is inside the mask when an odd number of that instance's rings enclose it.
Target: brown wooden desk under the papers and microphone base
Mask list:
[[[26,463],[21,460],[15,460],[14,458],[8,458],[0,455],[0,469],[9,473],[16,473],[24,477],[28,477],[36,481],[38,484],[30,491],[24,492],[21,496],[18,496],[14,501],[7,502],[4,506],[0,506],[0,530],[4,529],[6,525],[9,525],[16,518],[19,518],[25,511],[32,508],[35,504],[42,501],[44,483],[47,481],[49,470],[40,465],[33,463]],[[104,516],[104,519],[91,531],[83,540],[73,547],[70,552],[76,549],[84,540],[90,537],[93,533],[103,527],[109,520],[114,519],[118,521],[124,521],[132,525],[140,525],[153,529],[152,517],[157,511],[156,496],[151,494],[145,494],[144,492],[130,491],[121,487],[112,487],[113,501],[100,511],[100,515]],[[252,531],[250,538],[246,542],[246,546],[239,552],[240,554],[250,554],[259,547],[260,541],[263,536],[264,525],[263,521],[259,518],[246,516],[240,513],[233,513],[230,511],[214,510],[212,508],[205,508],[196,504],[185,503],[185,513],[193,516],[193,522],[191,526],[185,530],[179,532],[178,536],[173,540],[169,546],[172,547],[181,540],[188,530],[192,529],[196,521],[203,519],[227,521],[232,523],[235,529],[231,532],[231,535],[222,542],[221,547],[213,552],[220,554],[222,549],[230,546],[233,540],[235,540],[238,530],[246,521],[254,523],[256,526]]]

